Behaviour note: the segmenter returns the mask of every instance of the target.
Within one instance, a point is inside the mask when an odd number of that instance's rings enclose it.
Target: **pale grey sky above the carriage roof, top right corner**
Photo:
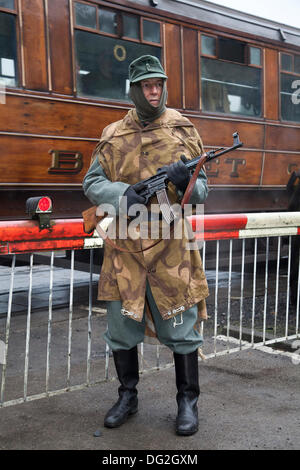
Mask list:
[[[300,0],[207,0],[300,28]]]

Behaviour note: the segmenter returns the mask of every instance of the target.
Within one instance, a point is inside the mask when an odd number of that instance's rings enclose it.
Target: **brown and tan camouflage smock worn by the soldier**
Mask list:
[[[132,109],[123,120],[104,129],[92,157],[92,165],[96,160],[104,177],[99,182],[89,177],[88,172],[83,182],[85,194],[94,204],[112,201],[114,196],[124,194],[128,185],[154,175],[157,168],[179,160],[183,154],[187,158],[195,157],[202,150],[196,129],[179,112],[167,109],[157,120],[142,127]],[[204,179],[206,185],[205,174]],[[100,196],[92,197],[97,185]],[[171,183],[168,197],[171,204],[180,203],[179,191]],[[207,281],[199,250],[186,249],[187,242],[183,234],[181,239],[162,240],[140,253],[120,252],[106,244],[98,300],[121,300],[122,313],[142,321],[148,279],[163,319],[183,313],[195,304],[200,316],[205,318]],[[136,251],[153,244],[153,240],[139,238],[117,243]]]

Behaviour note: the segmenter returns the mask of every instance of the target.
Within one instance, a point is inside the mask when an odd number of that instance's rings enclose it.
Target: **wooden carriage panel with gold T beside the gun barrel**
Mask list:
[[[208,183],[259,185],[262,166],[261,152],[235,151],[205,165]]]

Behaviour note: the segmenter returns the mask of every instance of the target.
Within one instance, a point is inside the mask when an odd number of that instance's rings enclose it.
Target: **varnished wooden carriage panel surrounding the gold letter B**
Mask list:
[[[0,139],[1,183],[63,183],[65,185],[82,182],[91,160],[96,142],[72,141],[70,139],[40,139],[32,137],[7,137]],[[82,169],[72,173],[74,163],[62,164],[71,169],[70,174],[49,172],[53,166],[53,150],[73,151],[82,154]],[[13,165],[8,165],[13,161]],[[60,171],[61,171],[60,169]]]

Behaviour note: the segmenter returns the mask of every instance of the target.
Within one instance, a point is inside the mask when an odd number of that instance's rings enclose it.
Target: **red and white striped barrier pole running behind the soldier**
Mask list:
[[[196,239],[207,241],[300,235],[300,212],[195,215],[188,219]],[[82,219],[54,219],[51,228],[43,230],[34,220],[0,222],[0,254],[101,246],[99,235],[84,232]]]

